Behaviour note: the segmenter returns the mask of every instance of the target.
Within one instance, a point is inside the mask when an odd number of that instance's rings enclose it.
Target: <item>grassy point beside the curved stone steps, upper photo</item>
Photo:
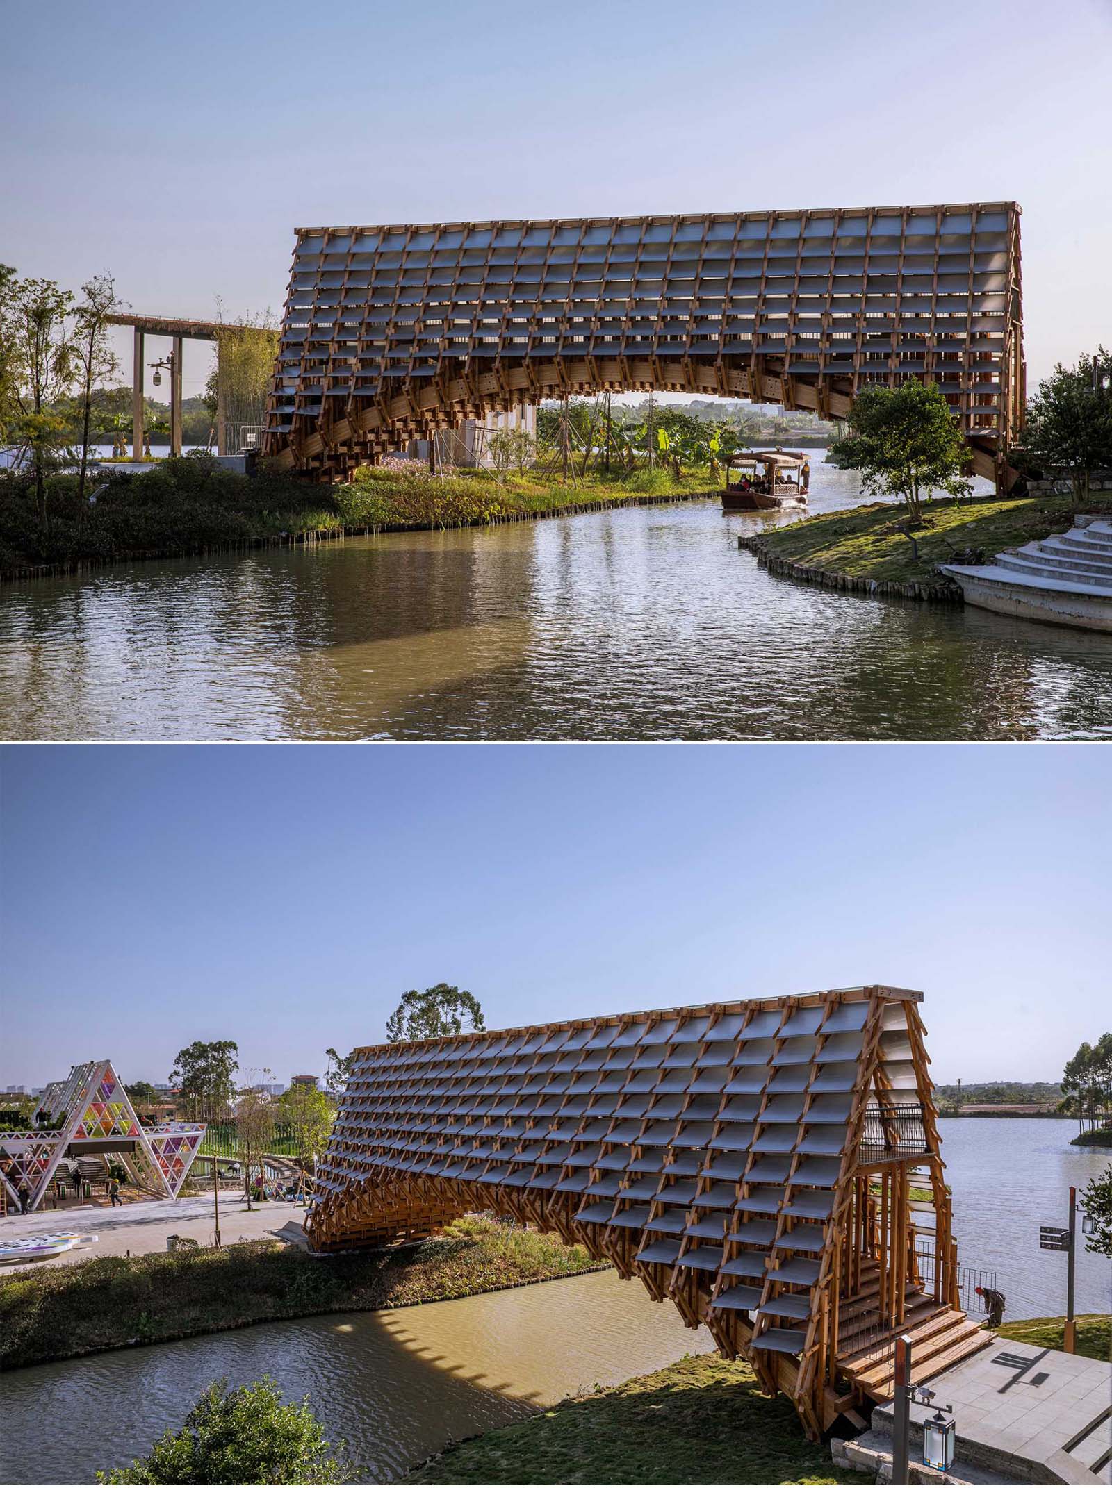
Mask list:
[[[1112,506],[1112,497],[1105,501]],[[929,501],[923,519],[914,533],[918,559],[899,531],[907,524],[904,506],[883,503],[808,516],[761,539],[770,555],[808,568],[914,583],[935,577],[938,564],[988,561],[1005,548],[1066,531],[1073,507],[1064,496],[984,496]]]

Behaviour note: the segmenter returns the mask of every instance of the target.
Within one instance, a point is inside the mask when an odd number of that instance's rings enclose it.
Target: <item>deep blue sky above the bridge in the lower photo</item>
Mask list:
[[[941,1080],[1109,1019],[1084,745],[7,745],[0,1083],[194,1039],[322,1073],[448,981],[490,1027],[892,982]]]

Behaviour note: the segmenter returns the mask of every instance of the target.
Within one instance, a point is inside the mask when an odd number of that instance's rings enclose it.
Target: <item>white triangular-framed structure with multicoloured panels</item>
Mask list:
[[[39,1110],[54,1117],[52,1129],[0,1131],[0,1201],[16,1213],[21,1189],[28,1211],[39,1208],[67,1153],[104,1158],[106,1176],[110,1158],[137,1187],[176,1199],[205,1134],[204,1122],[144,1126],[110,1059],[76,1064],[46,1086]]]

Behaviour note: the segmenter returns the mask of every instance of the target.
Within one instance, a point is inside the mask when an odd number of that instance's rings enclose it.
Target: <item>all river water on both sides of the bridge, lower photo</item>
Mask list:
[[[1066,1257],[1038,1248],[1066,1189],[1108,1153],[1069,1146],[1072,1122],[956,1119],[941,1126],[966,1266],[993,1268],[1009,1317],[1064,1311]],[[1078,1257],[1078,1309],[1109,1309],[1109,1268]],[[308,1394],[365,1481],[381,1482],[451,1439],[518,1420],[712,1347],[670,1305],[612,1272],[396,1312],[268,1323],[234,1333],[15,1370],[0,1381],[0,1481],[89,1482],[179,1426],[201,1390],[269,1373]]]

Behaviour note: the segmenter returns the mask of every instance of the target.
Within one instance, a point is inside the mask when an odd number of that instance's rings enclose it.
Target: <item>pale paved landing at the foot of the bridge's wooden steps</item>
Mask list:
[[[997,1338],[926,1387],[954,1408],[959,1463],[1017,1482],[1112,1482],[1112,1364]],[[916,1440],[927,1414],[911,1409]],[[872,1427],[890,1434],[890,1405]]]

